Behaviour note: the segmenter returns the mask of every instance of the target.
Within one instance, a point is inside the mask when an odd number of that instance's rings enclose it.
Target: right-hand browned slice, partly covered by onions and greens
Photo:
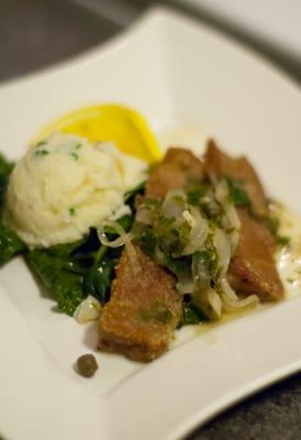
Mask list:
[[[263,186],[245,157],[231,158],[210,141],[204,169],[210,175],[228,176],[241,180],[256,213],[258,216],[267,213]],[[228,270],[232,287],[244,294],[256,294],[261,300],[282,298],[283,287],[274,260],[276,246],[274,237],[265,223],[257,221],[246,209],[237,211],[242,227],[238,246]]]

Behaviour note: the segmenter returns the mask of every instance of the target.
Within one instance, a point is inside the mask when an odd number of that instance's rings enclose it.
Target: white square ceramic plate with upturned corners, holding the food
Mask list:
[[[1,86],[0,151],[18,158],[47,122],[105,101],[137,108],[156,132],[203,128],[247,154],[268,190],[301,212],[299,89],[226,37],[163,9],[103,47]],[[0,431],[9,440],[175,440],[301,367],[297,297],[147,365],[99,353],[99,374],[87,381],[71,365],[94,349],[93,329],[54,314],[21,260],[1,270],[0,286]]]

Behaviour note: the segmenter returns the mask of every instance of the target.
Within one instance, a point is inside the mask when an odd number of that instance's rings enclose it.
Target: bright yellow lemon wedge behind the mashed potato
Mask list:
[[[163,155],[142,114],[120,105],[91,106],[71,111],[45,127],[32,143],[36,144],[53,131],[78,134],[91,142],[112,141],[123,153],[148,163],[159,161]]]

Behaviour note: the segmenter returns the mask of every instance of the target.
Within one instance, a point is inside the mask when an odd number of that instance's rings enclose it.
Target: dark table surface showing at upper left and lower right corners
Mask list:
[[[0,80],[78,54],[121,30],[118,24],[64,0],[0,0]],[[300,439],[300,374],[236,405],[187,438]]]

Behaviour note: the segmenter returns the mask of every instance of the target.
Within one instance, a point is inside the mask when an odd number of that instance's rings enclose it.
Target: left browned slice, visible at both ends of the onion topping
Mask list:
[[[201,162],[187,150],[170,148],[153,168],[147,197],[164,197],[182,188],[189,179],[203,176]],[[134,246],[138,273],[124,249],[111,299],[99,320],[99,348],[148,362],[164,353],[181,317],[181,298],[176,279],[140,248]]]

